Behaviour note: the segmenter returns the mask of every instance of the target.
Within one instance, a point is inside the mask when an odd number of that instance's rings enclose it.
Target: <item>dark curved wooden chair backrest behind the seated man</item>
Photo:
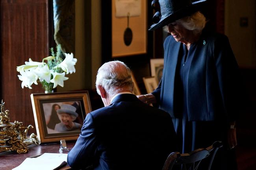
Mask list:
[[[222,146],[223,144],[221,141],[216,141],[208,148],[200,148],[187,154],[173,152],[167,157],[163,170],[172,170],[174,165],[181,165],[182,170],[197,170],[202,159],[211,155],[208,165],[208,170],[210,170],[215,154]]]

